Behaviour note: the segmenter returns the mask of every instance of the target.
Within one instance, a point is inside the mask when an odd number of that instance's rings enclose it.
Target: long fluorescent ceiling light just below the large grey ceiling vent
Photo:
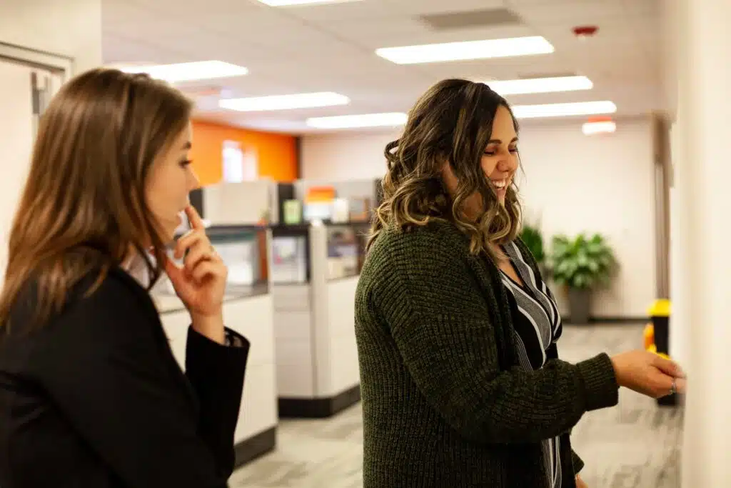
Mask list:
[[[548,53],[553,53],[553,45],[540,36],[376,49],[378,56],[396,64],[507,58]]]

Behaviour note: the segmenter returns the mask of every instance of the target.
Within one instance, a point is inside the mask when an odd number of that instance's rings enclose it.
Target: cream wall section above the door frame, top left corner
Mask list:
[[[101,0],[0,1],[0,42],[68,56],[75,72],[102,64]]]

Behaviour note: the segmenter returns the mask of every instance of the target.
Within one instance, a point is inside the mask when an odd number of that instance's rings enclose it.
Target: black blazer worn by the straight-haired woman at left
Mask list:
[[[0,328],[0,487],[227,487],[249,342],[189,329],[183,374],[144,288],[115,269],[83,298],[91,282]]]

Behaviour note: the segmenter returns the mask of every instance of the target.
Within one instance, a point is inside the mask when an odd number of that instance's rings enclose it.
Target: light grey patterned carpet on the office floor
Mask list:
[[[642,344],[641,326],[567,326],[559,342],[567,361]],[[282,421],[279,447],[232,476],[232,488],[361,488],[360,405],[319,421]],[[590,488],[679,488],[682,410],[621,391],[617,408],[588,413],[572,443],[586,462]],[[526,487],[528,488],[528,487]]]

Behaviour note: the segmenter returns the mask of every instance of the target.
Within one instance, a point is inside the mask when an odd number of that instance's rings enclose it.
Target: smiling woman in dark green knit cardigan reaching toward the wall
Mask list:
[[[681,370],[642,350],[558,359],[561,316],[518,239],[518,123],[488,86],[437,83],[385,155],[355,305],[364,488],[585,486],[581,416],[620,386],[680,391]]]

